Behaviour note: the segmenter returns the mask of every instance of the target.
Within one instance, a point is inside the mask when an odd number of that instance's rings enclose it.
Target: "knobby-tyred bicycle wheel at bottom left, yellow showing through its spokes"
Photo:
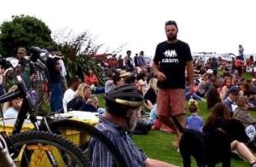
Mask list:
[[[7,142],[17,166],[86,166],[82,150],[61,135],[32,130],[10,135]]]

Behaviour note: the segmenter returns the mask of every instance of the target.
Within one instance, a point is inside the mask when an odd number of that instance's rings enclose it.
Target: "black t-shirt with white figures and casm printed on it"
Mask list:
[[[160,65],[160,72],[166,75],[166,81],[158,81],[160,89],[184,89],[186,62],[192,60],[189,44],[177,40],[177,43],[159,43],[154,54],[154,62]]]

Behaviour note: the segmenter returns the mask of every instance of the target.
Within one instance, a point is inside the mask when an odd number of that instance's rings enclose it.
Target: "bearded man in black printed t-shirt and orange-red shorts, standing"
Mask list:
[[[157,111],[160,120],[173,127],[171,115],[184,127],[184,86],[185,68],[187,69],[189,88],[194,89],[194,67],[189,44],[177,39],[177,24],[173,20],[166,22],[167,41],[159,43],[155,50],[153,70],[158,78]],[[181,133],[177,132],[178,147]]]

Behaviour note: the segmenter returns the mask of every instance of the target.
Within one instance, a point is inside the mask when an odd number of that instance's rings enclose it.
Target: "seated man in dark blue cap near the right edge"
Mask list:
[[[232,86],[228,91],[228,97],[224,100],[224,105],[228,108],[230,115],[233,115],[233,112],[236,110],[236,101],[239,97],[239,89],[237,86]]]

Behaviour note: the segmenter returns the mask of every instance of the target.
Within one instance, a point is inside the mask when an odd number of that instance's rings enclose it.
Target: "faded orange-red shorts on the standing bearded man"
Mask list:
[[[162,117],[185,114],[184,89],[159,89],[157,94],[157,112]]]

